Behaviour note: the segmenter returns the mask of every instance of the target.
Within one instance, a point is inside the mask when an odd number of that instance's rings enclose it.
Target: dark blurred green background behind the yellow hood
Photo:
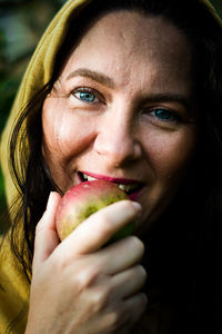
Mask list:
[[[27,63],[46,27],[64,2],[0,0],[0,134]],[[222,0],[212,0],[212,3],[222,12]],[[0,170],[0,213],[4,207],[4,186]]]

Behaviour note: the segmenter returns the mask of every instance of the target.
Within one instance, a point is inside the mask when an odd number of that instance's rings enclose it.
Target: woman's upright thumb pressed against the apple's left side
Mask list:
[[[37,225],[34,238],[33,271],[44,262],[59,245],[60,239],[56,227],[56,214],[61,196],[51,193],[47,209]]]

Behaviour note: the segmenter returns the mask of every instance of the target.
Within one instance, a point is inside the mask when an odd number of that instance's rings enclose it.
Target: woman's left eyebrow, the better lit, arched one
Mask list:
[[[99,84],[102,84],[109,88],[114,88],[114,81],[107,77],[103,73],[97,72],[97,71],[91,71],[89,69],[85,68],[79,68],[75,71],[72,71],[68,77],[67,80],[74,78],[74,77],[87,77],[89,79],[92,79]]]

